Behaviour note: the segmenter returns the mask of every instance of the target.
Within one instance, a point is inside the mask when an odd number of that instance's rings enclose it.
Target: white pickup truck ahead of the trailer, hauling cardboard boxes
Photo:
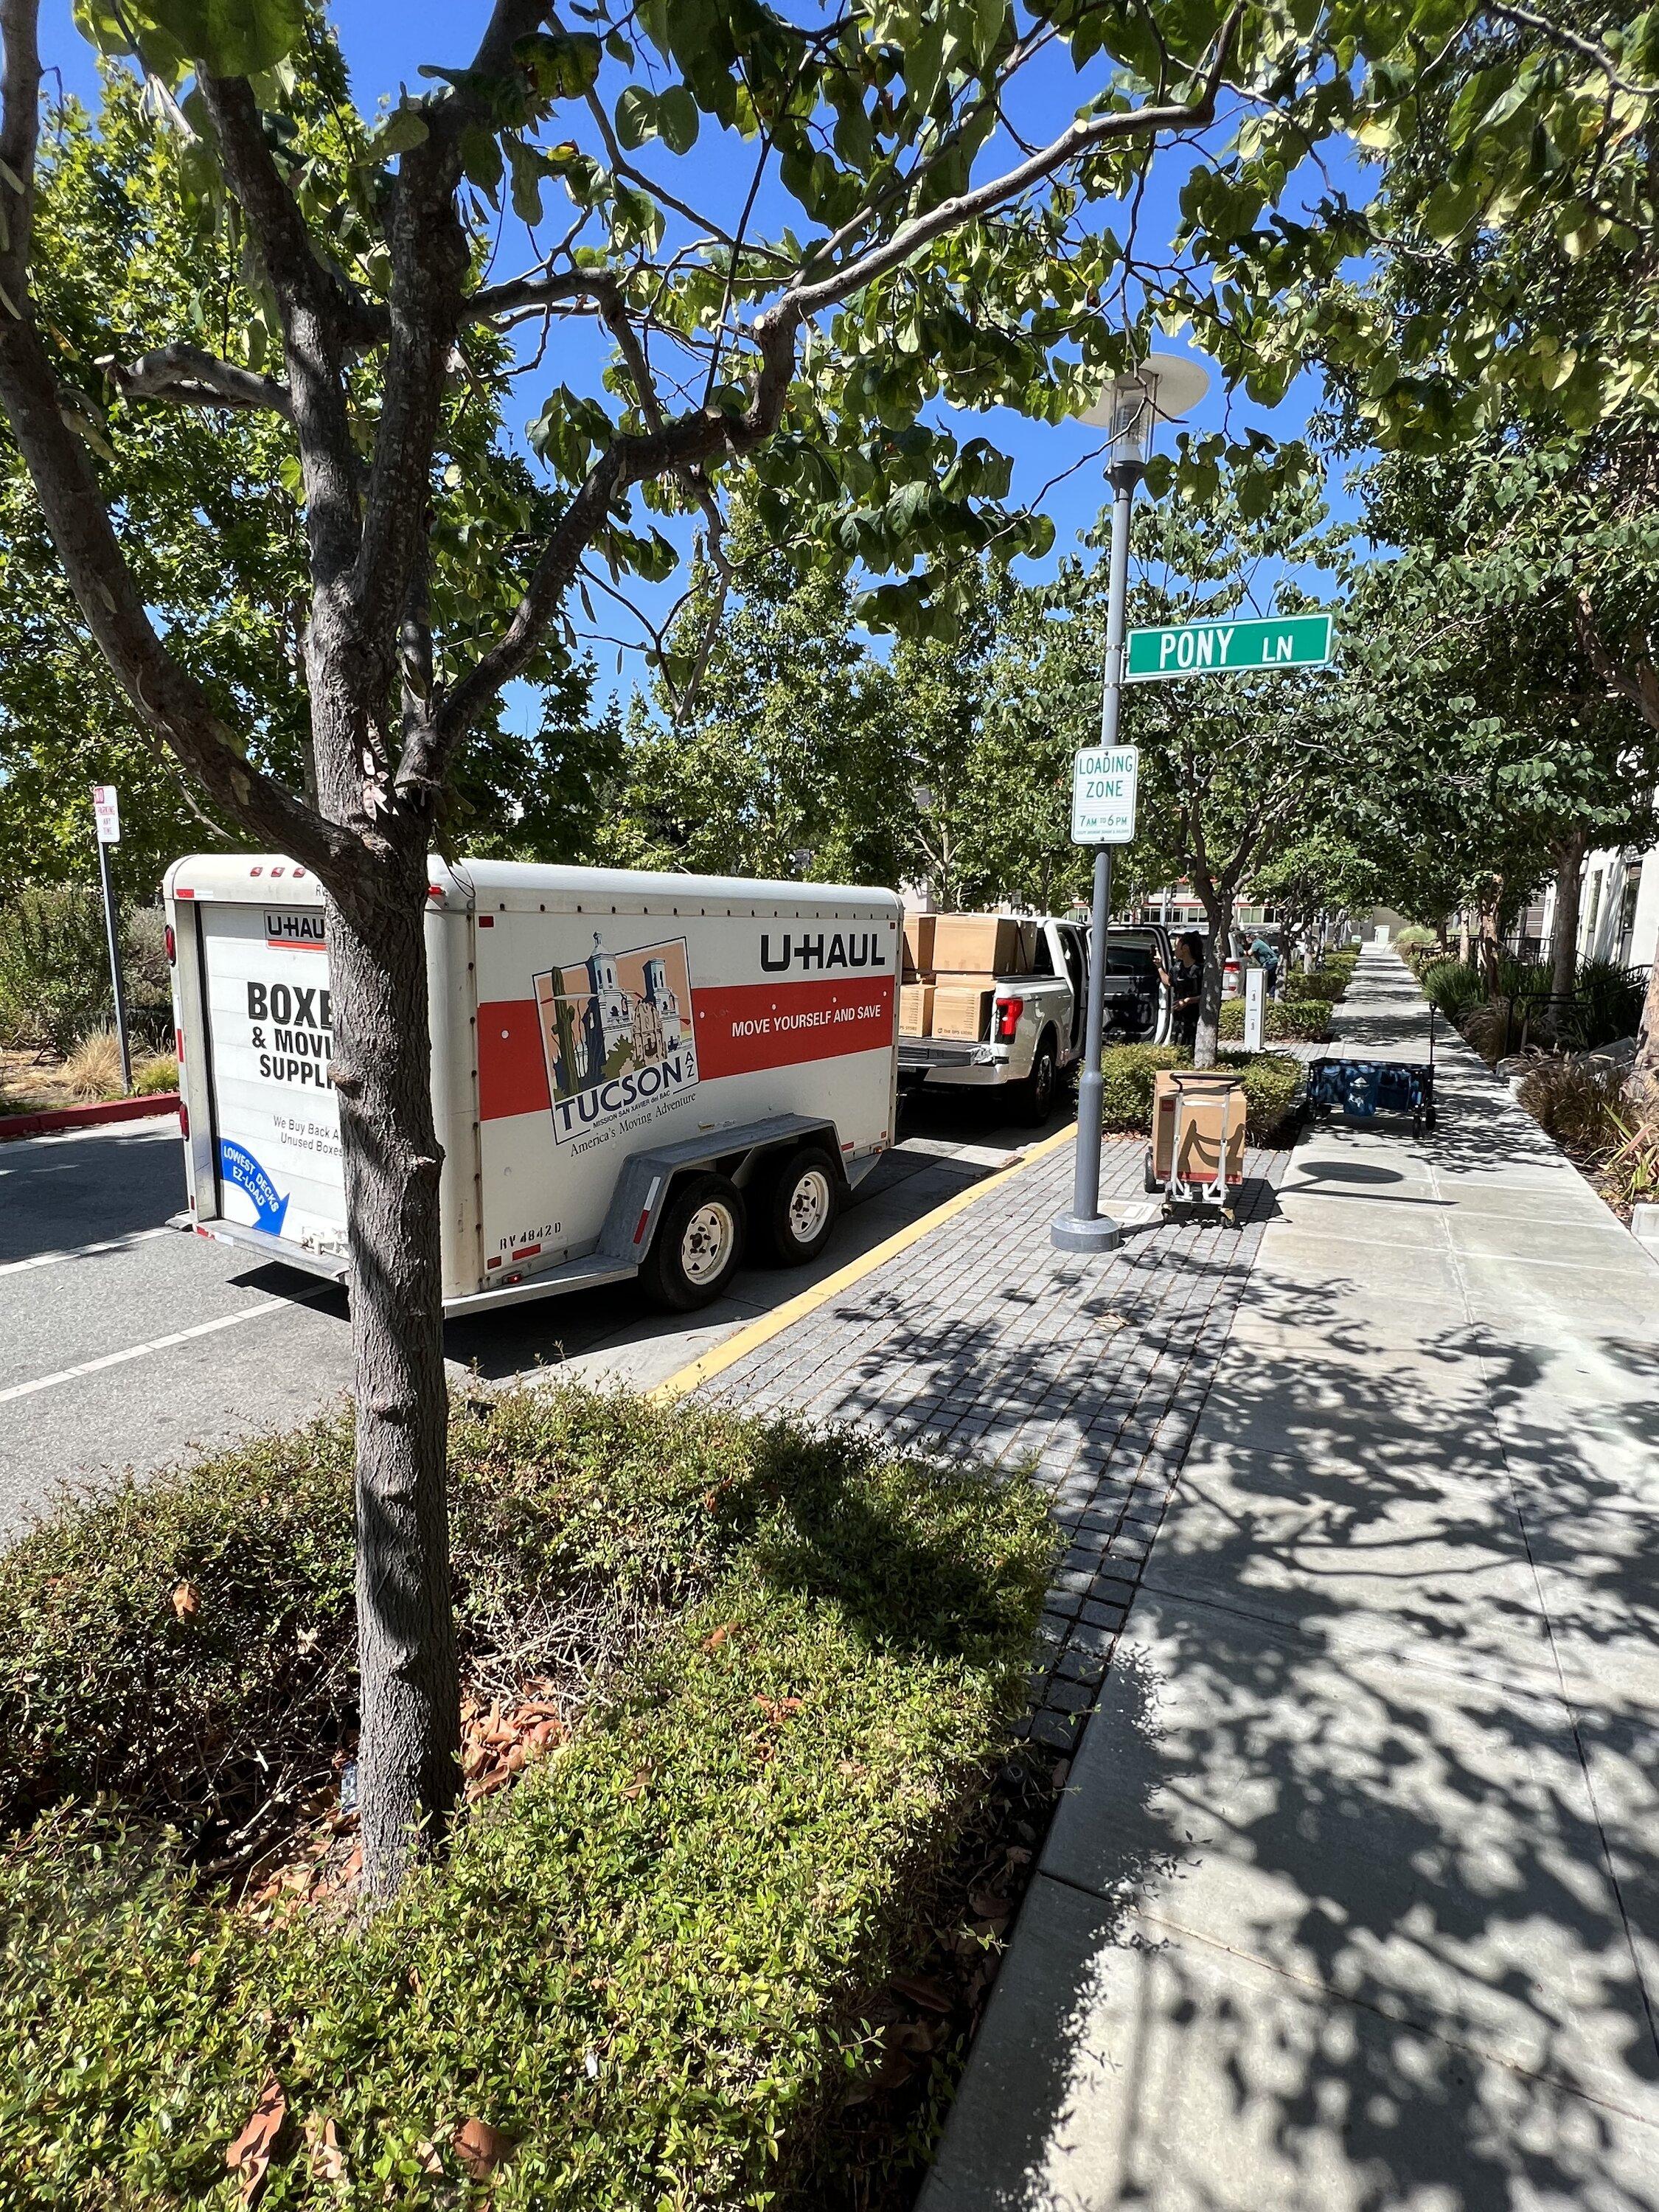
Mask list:
[[[1161,922],[1113,922],[1106,953],[1106,1042],[1164,1044],[1170,993],[1159,967],[1172,958],[1172,931]],[[1037,920],[1031,973],[998,975],[987,1031],[975,1042],[898,1040],[898,1088],[967,1088],[1011,1093],[1018,1119],[1046,1121],[1062,1077],[1084,1051],[1088,925],[1046,914]]]

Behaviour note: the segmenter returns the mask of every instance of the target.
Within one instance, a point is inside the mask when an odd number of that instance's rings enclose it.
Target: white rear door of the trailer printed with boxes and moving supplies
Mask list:
[[[217,1219],[345,1252],[321,907],[201,902]],[[197,1194],[197,1219],[206,1214]]]

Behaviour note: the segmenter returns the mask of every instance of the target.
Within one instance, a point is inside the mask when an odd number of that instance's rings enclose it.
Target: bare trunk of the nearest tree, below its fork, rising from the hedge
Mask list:
[[[427,860],[389,869],[383,902],[327,916],[356,1358],[358,1803],[378,1893],[442,1829],[460,1783]]]

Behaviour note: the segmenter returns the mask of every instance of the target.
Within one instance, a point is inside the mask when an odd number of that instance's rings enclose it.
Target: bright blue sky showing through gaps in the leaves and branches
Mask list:
[[[352,71],[354,91],[358,104],[372,111],[380,97],[396,97],[398,86],[409,86],[420,91],[425,80],[420,80],[420,64],[458,66],[465,64],[476,44],[480,24],[487,18],[487,7],[482,0],[460,0],[460,4],[434,4],[434,0],[336,0],[332,7],[332,18]],[[42,60],[49,69],[62,73],[62,82],[69,91],[80,93],[88,104],[97,102],[97,73],[93,64],[91,46],[75,31],[71,20],[69,0],[44,0],[42,7]],[[1055,64],[1037,64],[1022,91],[1020,124],[1031,133],[1042,133],[1044,137],[1064,128],[1071,119],[1077,102],[1095,88],[1093,80],[1077,80],[1071,64],[1060,60]],[[1006,139],[1002,142],[1006,150]],[[655,155],[655,159],[653,159]],[[998,142],[993,139],[982,155],[982,161],[993,161],[998,155]],[[712,124],[706,124],[703,135],[692,150],[681,161],[670,161],[659,148],[646,146],[637,157],[646,168],[659,168],[664,177],[672,170],[672,184],[695,197],[699,208],[719,217],[726,217],[734,226],[737,210],[741,208],[743,192],[750,181],[752,153],[737,142],[728,139]],[[1168,155],[1159,157],[1152,166],[1152,179],[1141,210],[1141,239],[1164,246],[1175,232],[1177,223],[1177,199],[1181,181],[1188,173],[1190,155],[1181,148],[1170,148]],[[690,181],[688,181],[690,179]],[[779,221],[787,219],[785,210],[794,212],[799,221],[799,210],[792,201],[779,195],[776,201]],[[757,210],[757,228],[765,228],[768,197],[761,195]],[[1099,210],[1099,219],[1108,219],[1108,210]],[[549,223],[551,230],[551,223]],[[495,250],[493,274],[509,276],[526,270],[535,263],[535,250],[529,234],[518,223],[518,219],[507,212],[502,221],[502,234]],[[568,332],[568,336],[564,334]],[[593,385],[597,378],[597,367],[602,361],[602,347],[593,334],[584,327],[566,325],[557,343],[566,352],[560,354],[557,367],[546,374],[544,383],[538,378],[524,378],[515,387],[518,405],[509,409],[509,429],[522,431],[522,425],[535,416],[540,400],[549,385],[560,380],[573,387]],[[1179,349],[1181,341],[1164,341],[1166,347]],[[1276,409],[1263,409],[1250,403],[1243,394],[1232,398],[1223,396],[1217,385],[1212,385],[1210,396],[1199,405],[1192,422],[1197,429],[1230,429],[1234,434],[1245,427],[1261,427],[1279,438],[1301,436],[1307,411],[1318,400],[1318,383],[1312,376],[1298,378],[1290,396]],[[518,420],[515,420],[518,418]],[[1009,409],[987,409],[973,418],[958,414],[953,418],[953,429],[960,438],[987,436],[1004,453],[1013,458],[1013,502],[1040,502],[1042,509],[1053,518],[1055,524],[1055,551],[1040,564],[1020,562],[1018,573],[1026,577],[1037,577],[1055,566],[1055,562],[1075,551],[1082,535],[1095,524],[1104,498],[1102,467],[1097,456],[1099,436],[1079,422],[1029,422]],[[1164,431],[1161,436],[1170,436]],[[1338,511],[1347,509],[1347,502],[1336,493],[1332,502]],[[677,597],[684,577],[659,591],[639,591],[641,602],[648,606],[653,619],[661,619]],[[617,617],[617,630],[628,630],[626,615],[619,608],[611,608]],[[611,628],[611,622],[602,622],[602,628]],[[602,646],[595,653],[599,668],[599,692],[626,688],[641,675],[641,664],[635,653],[622,655],[622,666],[617,666],[617,648]],[[533,712],[533,699],[520,688],[520,692],[509,699],[509,719],[522,721],[522,717]]]

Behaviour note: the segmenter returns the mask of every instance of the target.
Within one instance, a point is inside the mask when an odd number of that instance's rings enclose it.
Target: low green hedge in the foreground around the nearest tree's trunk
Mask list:
[[[228,2205],[272,2075],[261,2208],[770,2201],[872,2059],[863,1993],[916,1955],[1006,1750],[1040,1498],[573,1389],[460,1418],[471,1663],[549,1615],[619,1659],[394,1905],[261,1920],[155,1809],[228,1816],[190,1745],[299,1759],[347,1725],[347,1442],[221,1458],[0,1564],[9,1759],[69,1794],[0,1856],[0,2201]],[[489,2188],[469,2119],[515,2143]],[[305,2150],[325,2121],[343,2181]]]

